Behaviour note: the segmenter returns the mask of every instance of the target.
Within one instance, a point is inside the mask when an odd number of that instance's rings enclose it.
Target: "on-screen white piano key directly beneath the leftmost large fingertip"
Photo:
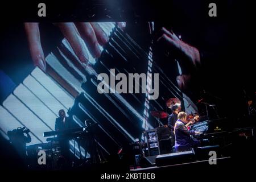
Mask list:
[[[47,95],[43,95],[42,97],[55,97],[56,100],[58,100],[59,102],[61,102],[61,104],[63,104],[65,106],[66,109],[68,109],[69,107],[71,107],[73,105],[73,100],[74,98],[69,95],[67,92],[65,92],[65,90],[63,88],[61,88],[55,81],[53,81],[49,76],[47,76],[43,71],[41,71],[41,69],[39,68],[35,68],[34,71],[32,71],[31,75],[36,79],[36,81],[38,81],[40,84],[42,84],[45,89],[48,90],[49,93],[52,94],[52,96],[47,96]],[[27,79],[26,81],[32,81],[31,79]],[[25,85],[26,82],[23,82]],[[34,85],[35,84],[35,85]],[[33,92],[35,92],[35,90],[37,90],[37,86],[39,86],[38,84],[36,84],[36,82],[33,82],[32,85],[28,84],[30,87],[30,89],[33,90]],[[42,98],[39,94],[38,96],[40,98]],[[52,98],[53,99],[53,98]],[[44,101],[44,98],[42,98],[42,100]],[[53,99],[53,101],[55,101],[55,99]],[[51,105],[49,105],[51,106]],[[52,108],[52,110],[57,109],[57,112],[59,112],[59,106],[57,106],[57,102],[55,107]],[[64,109],[64,108],[62,108]]]

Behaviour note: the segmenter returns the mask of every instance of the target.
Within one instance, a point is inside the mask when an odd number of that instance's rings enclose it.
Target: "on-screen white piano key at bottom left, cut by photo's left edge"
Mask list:
[[[22,113],[22,111],[20,110],[20,113]],[[23,127],[26,125],[22,125],[17,119],[15,119],[13,117],[13,115],[11,115],[9,113],[9,111],[7,111],[4,107],[0,106],[0,125],[1,125],[1,129],[7,134],[7,131],[11,131],[16,129],[17,127]],[[26,126],[27,127],[27,126]],[[34,135],[31,134],[31,143],[28,143],[28,145],[30,144],[35,144],[35,143],[41,143]]]

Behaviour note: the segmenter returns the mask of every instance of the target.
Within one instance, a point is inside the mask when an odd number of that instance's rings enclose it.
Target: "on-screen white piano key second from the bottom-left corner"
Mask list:
[[[18,89],[18,88],[16,88]],[[32,113],[22,102],[13,94],[8,96],[3,102],[3,106],[10,111],[15,117],[23,123],[32,133],[36,135],[43,143],[46,143],[46,138],[43,137],[44,131],[49,131],[49,128]],[[36,141],[35,143],[38,143]],[[40,142],[39,142],[40,143]]]

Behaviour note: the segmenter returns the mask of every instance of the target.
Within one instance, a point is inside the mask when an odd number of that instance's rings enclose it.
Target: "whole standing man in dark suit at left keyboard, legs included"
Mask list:
[[[56,118],[55,121],[55,130],[65,130],[71,128],[71,122],[68,117],[66,117],[65,111],[63,109],[59,110],[59,118]],[[65,136],[58,135],[60,150],[61,150],[61,158],[59,159],[59,167],[67,168],[70,166],[69,160],[69,139],[65,138]]]

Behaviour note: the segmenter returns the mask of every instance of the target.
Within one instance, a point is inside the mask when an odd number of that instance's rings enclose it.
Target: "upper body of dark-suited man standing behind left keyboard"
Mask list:
[[[63,109],[59,110],[59,118],[56,118],[55,121],[55,130],[65,130],[71,127],[71,121],[66,117],[65,111]]]

